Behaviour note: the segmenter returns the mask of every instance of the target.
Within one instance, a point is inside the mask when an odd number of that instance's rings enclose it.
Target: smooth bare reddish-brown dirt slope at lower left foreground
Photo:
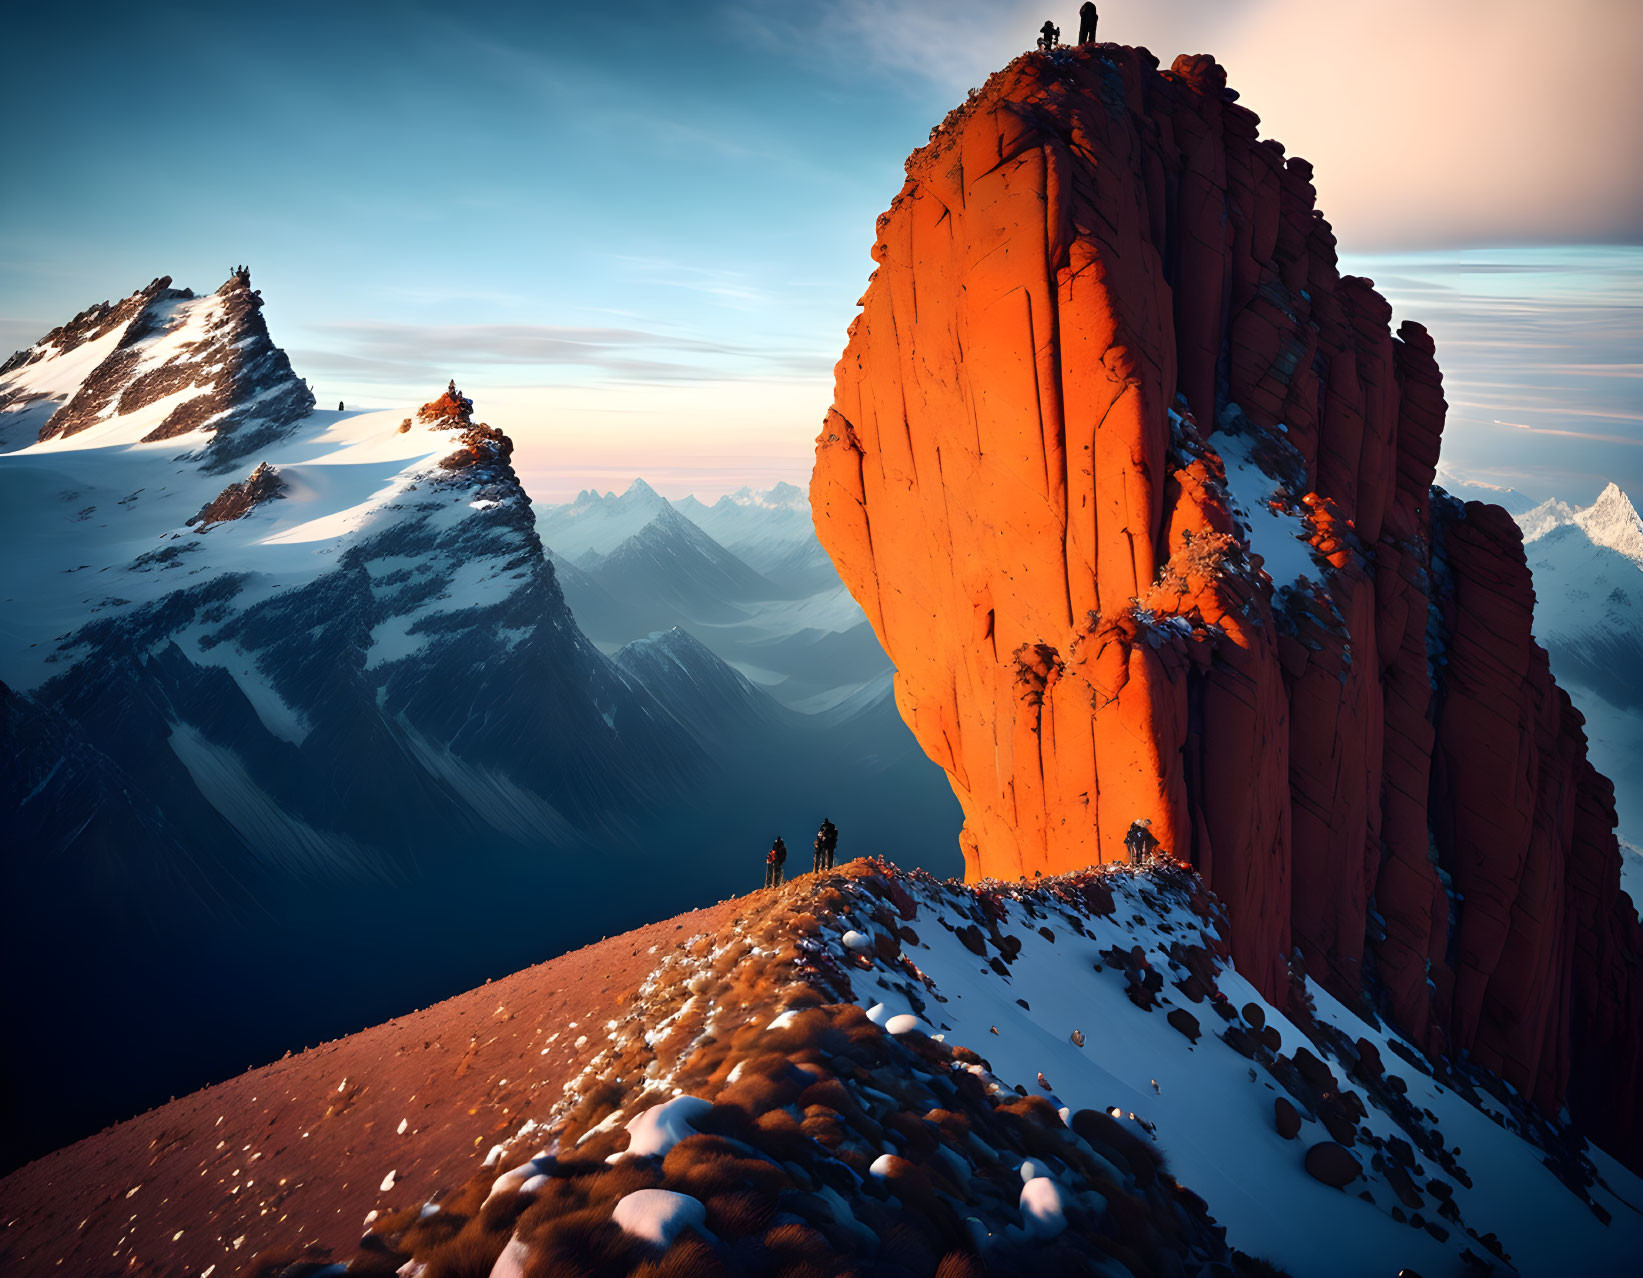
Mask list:
[[[424,1199],[468,1179],[644,977],[736,908],[613,936],[30,1163],[0,1181],[0,1273],[227,1275],[274,1239],[347,1255],[389,1171]]]

